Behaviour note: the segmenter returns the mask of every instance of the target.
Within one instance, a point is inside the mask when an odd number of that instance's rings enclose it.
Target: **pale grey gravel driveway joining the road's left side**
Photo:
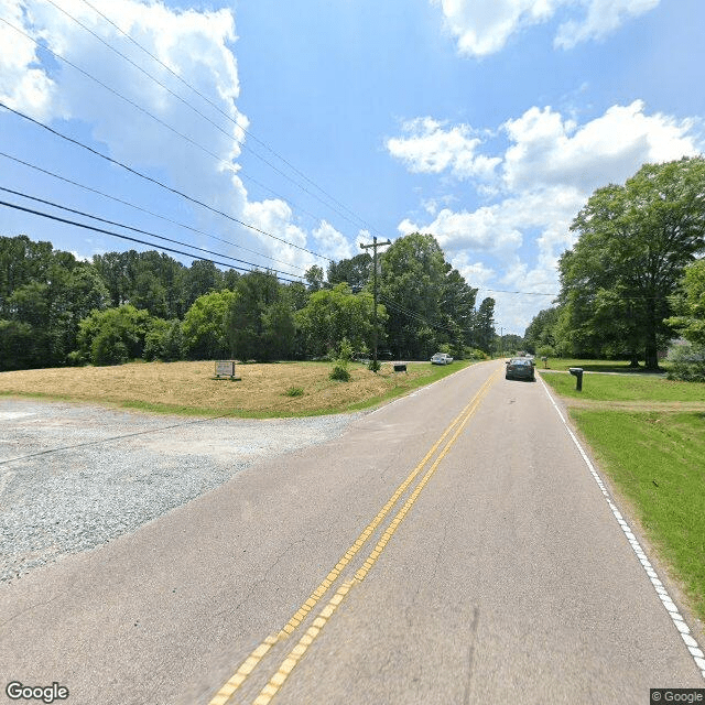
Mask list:
[[[185,419],[2,399],[0,581],[133,531],[360,415]]]

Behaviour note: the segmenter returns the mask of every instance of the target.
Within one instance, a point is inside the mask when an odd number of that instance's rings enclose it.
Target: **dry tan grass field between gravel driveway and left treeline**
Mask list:
[[[460,369],[410,364],[408,373],[382,365],[378,375],[350,365],[349,382],[328,378],[326,362],[238,365],[239,381],[215,379],[205,362],[132,362],[0,373],[0,394],[44,397],[186,414],[293,416],[350,411],[398,397]],[[297,397],[288,394],[300,388]]]

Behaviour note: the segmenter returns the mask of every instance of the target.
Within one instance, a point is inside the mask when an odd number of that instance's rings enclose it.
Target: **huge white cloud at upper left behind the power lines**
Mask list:
[[[230,121],[216,115],[213,107],[78,0],[65,0],[61,7],[119,52],[144,66],[184,100],[101,45],[50,3],[0,0],[0,9],[2,17],[26,34],[204,149],[184,140],[62,62],[48,58],[42,63],[46,53],[37,53],[32,41],[2,23],[0,99],[43,122],[58,119],[80,121],[89,126],[96,141],[107,145],[107,150],[101,147],[101,151],[107,151],[113,159],[140,171],[156,172],[161,181],[169,182],[174,188],[261,230],[305,247],[313,234],[295,225],[289,205],[281,199],[250,200],[243,177],[239,174],[236,160],[240,156],[240,143],[249,122],[236,105],[240,84],[237,61],[231,51],[237,41],[231,10],[176,10],[162,2],[138,0],[93,0],[91,4],[198,93],[207,96],[229,116]],[[214,116],[212,119],[220,129],[205,121],[184,101],[204,115]],[[231,231],[231,223],[224,223],[213,214],[198,212],[197,217],[206,230]],[[321,228],[325,229],[325,226],[322,224]],[[247,243],[292,265],[305,268],[312,263],[312,254],[264,235],[246,230],[229,239]]]

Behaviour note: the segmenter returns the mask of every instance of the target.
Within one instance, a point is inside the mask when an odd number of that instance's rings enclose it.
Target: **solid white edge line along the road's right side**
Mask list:
[[[539,376],[539,379],[541,379],[541,376]],[[675,603],[669,595],[669,592],[663,586],[663,583],[659,579],[659,576],[657,572],[653,570],[653,566],[651,565],[651,563],[649,562],[649,558],[647,557],[647,554],[641,547],[641,544],[639,543],[639,541],[637,541],[637,536],[634,536],[633,532],[631,531],[631,528],[629,527],[625,518],[621,516],[619,509],[617,508],[617,505],[615,505],[611,497],[609,496],[609,492],[607,491],[607,487],[605,486],[603,478],[598,475],[597,470],[595,469],[595,466],[590,463],[590,459],[587,457],[587,453],[585,453],[585,451],[583,449],[583,446],[581,445],[581,442],[577,440],[576,435],[573,433],[573,430],[571,429],[567,421],[565,420],[565,416],[558,409],[558,405],[555,403],[553,394],[551,394],[551,392],[549,391],[549,387],[543,381],[543,379],[541,379],[541,384],[544,391],[546,392],[549,399],[551,400],[553,408],[556,410],[558,416],[561,417],[561,421],[563,422],[563,425],[568,432],[568,435],[571,436],[571,438],[573,438],[573,443],[575,443],[577,449],[583,456],[583,459],[585,460],[585,465],[587,465],[587,469],[590,471],[593,479],[597,482],[597,486],[603,492],[603,496],[605,497],[607,505],[611,509],[612,514],[617,520],[617,523],[619,524],[621,530],[625,532],[625,535],[627,536],[627,541],[629,541],[629,545],[631,545],[633,552],[637,554],[637,558],[639,558],[639,563],[641,563],[641,567],[643,567],[644,573],[647,574],[649,581],[651,581],[651,585],[653,585],[653,589],[655,590],[657,596],[659,597],[659,599],[663,604],[663,607],[665,608],[669,616],[671,617],[671,620],[673,621],[674,627],[679,630],[679,633],[681,634],[681,638],[683,639],[688,650],[688,653],[693,657],[693,660],[695,661],[695,665],[697,666],[697,669],[703,674],[703,677],[705,679],[705,653],[703,653],[703,650],[701,649],[699,644],[691,633],[690,627],[685,623],[685,619],[683,619],[683,617],[679,612],[679,608],[675,606]]]

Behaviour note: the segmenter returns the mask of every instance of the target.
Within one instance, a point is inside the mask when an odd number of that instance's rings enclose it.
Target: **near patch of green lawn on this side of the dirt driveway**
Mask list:
[[[705,412],[571,415],[705,619]]]

